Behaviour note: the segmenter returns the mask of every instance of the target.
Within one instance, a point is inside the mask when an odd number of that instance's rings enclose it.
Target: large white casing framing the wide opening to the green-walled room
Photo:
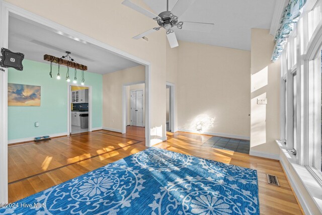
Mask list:
[[[150,147],[150,126],[151,126],[151,63],[130,53],[122,51],[85,34],[71,30],[63,25],[57,24],[32,12],[19,8],[15,5],[0,0],[0,47],[8,48],[9,14],[31,20],[56,33],[73,38],[77,41],[84,41],[97,45],[118,56],[132,60],[145,66],[145,146]],[[8,69],[0,71],[0,202],[8,202]]]

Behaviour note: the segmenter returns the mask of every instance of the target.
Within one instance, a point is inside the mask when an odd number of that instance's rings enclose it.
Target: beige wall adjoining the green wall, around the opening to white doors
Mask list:
[[[145,66],[139,65],[103,76],[103,128],[122,130],[122,87],[145,80]],[[129,92],[128,87],[127,92]]]

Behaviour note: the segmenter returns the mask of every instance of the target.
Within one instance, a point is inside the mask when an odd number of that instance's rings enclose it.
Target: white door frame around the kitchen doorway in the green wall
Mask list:
[[[93,110],[93,106],[92,106],[92,86],[90,85],[78,85],[78,84],[73,84],[73,83],[68,83],[67,85],[67,135],[70,135],[71,132],[71,87],[75,86],[75,87],[87,87],[89,88],[89,132],[93,131],[93,115],[92,115],[92,110]]]

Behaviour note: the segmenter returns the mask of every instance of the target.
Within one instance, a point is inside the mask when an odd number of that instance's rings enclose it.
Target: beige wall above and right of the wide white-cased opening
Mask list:
[[[133,36],[155,27],[154,20],[122,5],[123,0],[57,0],[54,4],[48,0],[6,1],[149,61],[151,63],[151,142],[154,144],[166,136],[164,127],[166,124],[164,117],[166,114],[165,31],[161,30],[149,35],[148,42],[143,39],[132,39]],[[71,9],[77,13],[71,15]],[[103,111],[106,110],[103,109]]]

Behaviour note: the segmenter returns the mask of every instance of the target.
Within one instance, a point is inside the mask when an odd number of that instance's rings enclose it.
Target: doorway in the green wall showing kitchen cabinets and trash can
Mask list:
[[[69,86],[69,134],[90,131],[89,87]]]

